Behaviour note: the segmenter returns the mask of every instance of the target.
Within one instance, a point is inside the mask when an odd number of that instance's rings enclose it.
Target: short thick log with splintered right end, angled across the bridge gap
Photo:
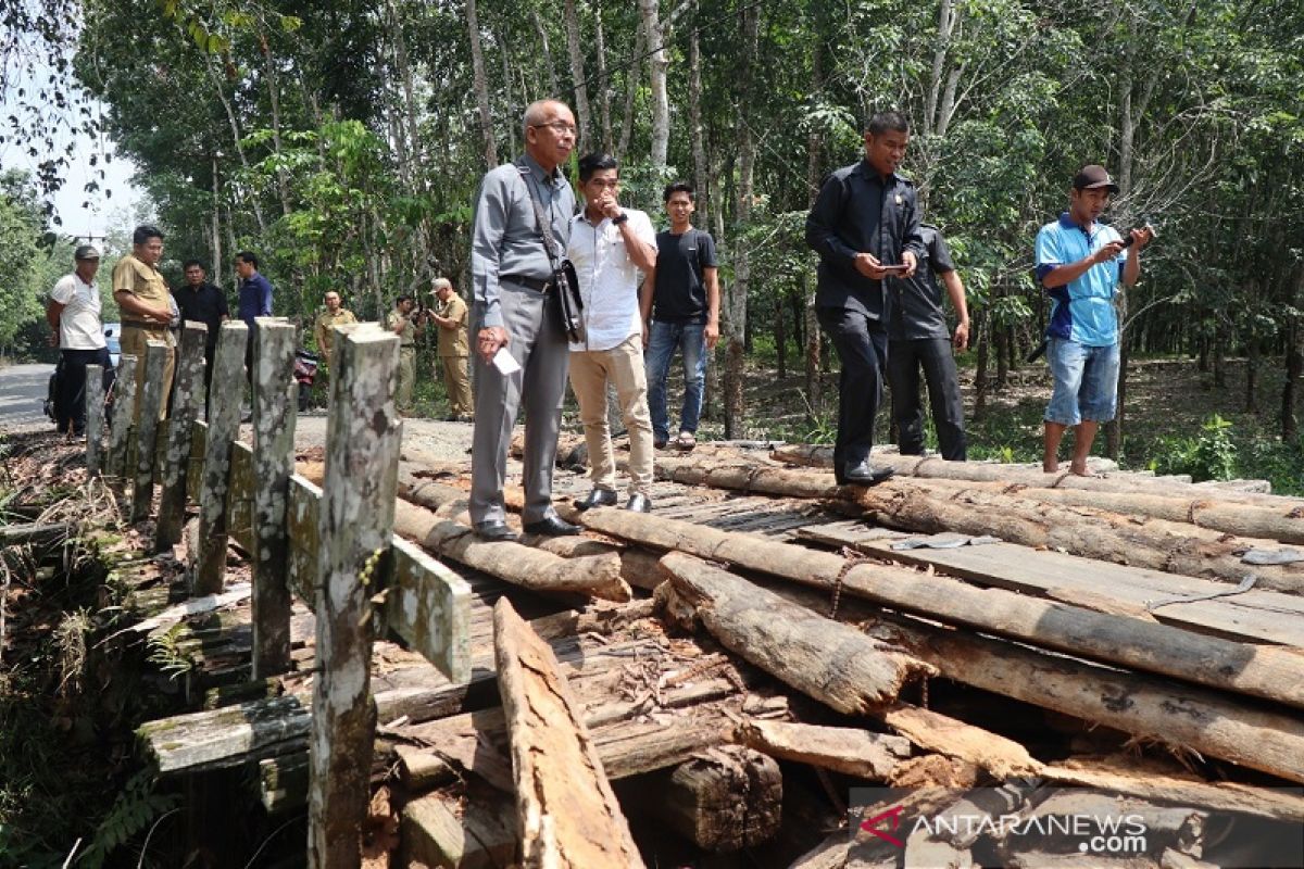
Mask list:
[[[936,671],[887,644],[788,603],[702,559],[661,559],[678,620],[700,620],[730,651],[840,713],[866,714],[895,702],[901,688]]]

